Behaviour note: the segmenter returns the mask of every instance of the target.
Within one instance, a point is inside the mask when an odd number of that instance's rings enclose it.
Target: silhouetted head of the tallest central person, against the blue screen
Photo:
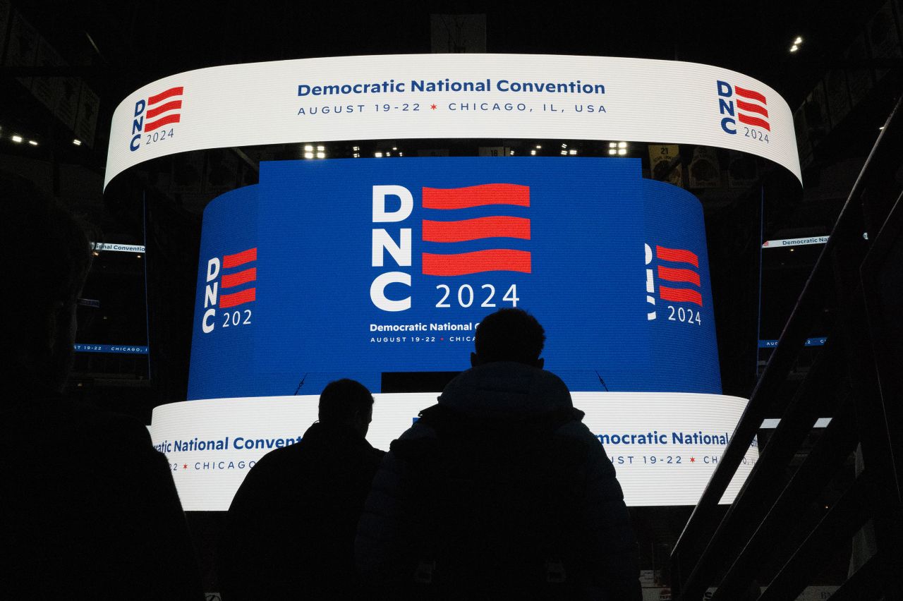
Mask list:
[[[523,309],[500,309],[479,322],[474,346],[484,363],[533,365],[543,352],[545,330]]]

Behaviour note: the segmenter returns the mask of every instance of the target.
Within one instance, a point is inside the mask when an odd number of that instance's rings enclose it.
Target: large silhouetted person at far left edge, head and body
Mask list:
[[[0,174],[0,596],[202,599],[166,458],[140,422],[65,400],[88,238]],[[125,400],[124,400],[125,401]]]

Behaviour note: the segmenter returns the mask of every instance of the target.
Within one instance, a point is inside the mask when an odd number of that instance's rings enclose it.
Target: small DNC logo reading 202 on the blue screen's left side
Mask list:
[[[257,289],[257,247],[248,248],[236,254],[223,255],[222,261],[215,256],[207,262],[207,286],[204,288],[204,317],[200,328],[209,334],[217,327],[217,305],[219,309],[232,309],[238,305],[254,302]],[[255,264],[255,266],[249,266]],[[226,271],[228,270],[228,273]],[[222,277],[220,277],[222,271]],[[250,285],[247,285],[250,283]],[[228,293],[220,293],[228,290]],[[232,289],[239,289],[233,291]],[[237,328],[251,323],[251,310],[234,310],[223,313],[221,328]]]

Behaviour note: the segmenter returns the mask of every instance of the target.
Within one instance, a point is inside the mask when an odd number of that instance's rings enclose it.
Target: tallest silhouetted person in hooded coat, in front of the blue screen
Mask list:
[[[637,541],[605,451],[523,310],[479,324],[473,368],[392,443],[358,568],[407,598],[640,598]]]

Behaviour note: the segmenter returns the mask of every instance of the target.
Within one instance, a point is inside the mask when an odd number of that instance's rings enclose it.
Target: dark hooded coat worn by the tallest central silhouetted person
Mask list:
[[[553,497],[554,503],[561,506],[548,510],[552,514],[545,517],[537,514],[535,530],[542,530],[545,519],[561,518],[558,513],[568,514],[569,521],[561,521],[570,524],[563,535],[563,543],[573,551],[573,557],[581,565],[576,566],[573,562],[565,562],[565,565],[570,570],[570,578],[576,579],[576,583],[572,584],[579,589],[578,597],[618,601],[640,598],[637,540],[615,469],[599,439],[582,424],[582,412],[573,409],[571,394],[560,378],[542,369],[517,363],[480,365],[452,380],[439,397],[437,407],[461,416],[464,422],[471,424],[470,430],[479,430],[481,424],[501,424],[502,427],[495,430],[490,427],[485,436],[477,433],[475,438],[470,437],[457,446],[452,444],[451,448],[459,449],[452,453],[461,455],[467,454],[471,448],[478,448],[477,452],[483,454],[486,463],[492,463],[490,459],[496,463],[500,460],[503,468],[506,458],[517,458],[516,452],[511,454],[511,448],[539,431],[536,423],[545,421],[551,424],[551,436],[536,437],[538,444],[549,449],[547,452],[538,449],[535,457],[552,458],[553,462],[560,458],[562,464],[569,465],[562,465],[560,469],[552,466],[551,472],[560,476],[556,485],[562,486],[563,490],[563,495]],[[371,581],[401,589],[404,589],[405,583],[416,582],[422,576],[419,572],[423,565],[416,565],[416,558],[411,557],[410,550],[422,547],[424,541],[421,539],[433,536],[434,532],[424,527],[423,520],[418,517],[423,513],[424,503],[427,503],[424,497],[429,495],[424,495],[424,488],[416,483],[423,482],[424,471],[433,471],[431,482],[441,486],[441,479],[445,477],[443,474],[450,473],[448,460],[444,464],[431,465],[420,461],[419,456],[429,455],[433,443],[443,442],[443,437],[458,436],[453,430],[436,427],[435,422],[431,425],[431,421],[425,419],[431,411],[436,411],[435,407],[425,410],[422,413],[424,419],[415,422],[393,442],[392,450],[384,458],[374,479],[358,526],[356,559],[360,573]],[[454,442],[461,443],[460,440]],[[561,448],[564,452],[559,452]],[[452,457],[452,463],[454,460]],[[443,467],[436,467],[439,465]],[[479,466],[479,458],[467,465]],[[538,471],[540,467],[536,469]],[[499,474],[505,472],[504,469],[498,471]],[[514,466],[511,472],[525,479],[533,476],[523,469],[517,471]],[[536,481],[541,482],[542,479]],[[505,485],[517,483],[507,482]],[[523,490],[526,491],[528,503],[533,498],[531,495],[535,496],[536,504],[550,498],[549,495],[544,496],[547,491],[535,491],[529,486]],[[461,512],[458,517],[466,522],[479,517],[481,511],[489,511],[493,499],[487,496],[477,495],[459,504]],[[454,499],[449,502],[454,503]],[[450,521],[448,516],[442,519]],[[455,519],[452,517],[451,522]],[[463,526],[465,522],[459,525]],[[455,527],[452,523],[451,530]],[[528,526],[525,530],[529,529]],[[499,542],[503,541],[475,540],[470,549],[481,550]],[[427,587],[425,590],[430,589]],[[424,596],[423,591],[422,587],[416,596]],[[433,592],[439,591],[433,589]],[[487,591],[484,588],[467,592],[479,595]],[[573,597],[573,590],[567,596]]]

